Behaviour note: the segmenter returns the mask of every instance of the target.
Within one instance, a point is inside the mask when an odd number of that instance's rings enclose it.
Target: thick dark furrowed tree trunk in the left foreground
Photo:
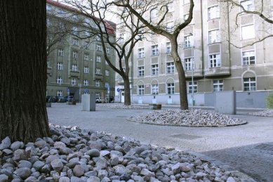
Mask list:
[[[46,0],[0,1],[0,139],[49,135]]]

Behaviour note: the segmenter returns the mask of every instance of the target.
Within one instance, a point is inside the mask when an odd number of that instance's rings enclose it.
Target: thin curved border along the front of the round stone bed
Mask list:
[[[158,126],[182,126],[182,127],[228,127],[228,126],[241,126],[244,124],[248,124],[248,122],[239,123],[239,124],[228,124],[228,125],[183,125],[183,124],[157,124],[157,123],[149,123],[149,122],[136,122],[133,119],[126,119],[128,122],[135,122],[139,124],[151,124],[151,125],[158,125]]]

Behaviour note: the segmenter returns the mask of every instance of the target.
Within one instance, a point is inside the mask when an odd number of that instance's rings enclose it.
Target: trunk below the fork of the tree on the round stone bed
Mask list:
[[[173,46],[173,45],[172,45]],[[179,93],[180,93],[180,109],[181,110],[188,110],[188,102],[187,102],[187,84],[186,84],[186,77],[185,71],[183,69],[181,59],[178,55],[177,48],[172,51],[173,60],[175,61],[176,70],[178,70],[178,79],[179,79]]]

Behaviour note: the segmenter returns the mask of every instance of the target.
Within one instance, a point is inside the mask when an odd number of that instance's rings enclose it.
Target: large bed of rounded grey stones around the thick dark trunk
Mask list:
[[[172,148],[76,126],[50,126],[51,137],[0,144],[0,181],[241,181],[229,171]]]

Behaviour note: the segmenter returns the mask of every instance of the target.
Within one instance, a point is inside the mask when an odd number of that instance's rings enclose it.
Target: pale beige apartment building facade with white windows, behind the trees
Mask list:
[[[259,3],[239,1],[248,11],[261,8]],[[273,39],[251,43],[272,34],[272,24],[217,0],[194,4],[194,18],[178,37],[189,105],[194,100],[195,105],[213,106],[216,91],[237,91],[237,106],[264,108],[265,98],[273,89]],[[266,6],[272,7],[272,1],[264,1]],[[172,27],[175,20],[187,18],[188,0],[174,0],[168,7],[172,16],[166,19],[166,28]],[[150,12],[150,18],[157,21],[157,13]],[[265,14],[271,17],[272,8]],[[170,53],[168,39],[156,34],[135,46],[133,103],[180,103],[178,72]],[[116,87],[122,91],[122,86]]]

